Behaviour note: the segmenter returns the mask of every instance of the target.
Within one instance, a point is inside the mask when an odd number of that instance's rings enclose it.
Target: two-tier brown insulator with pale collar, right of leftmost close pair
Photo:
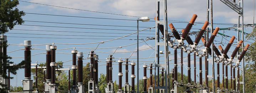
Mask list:
[[[51,49],[51,62],[55,62],[55,50],[56,49]],[[55,67],[51,67],[51,84],[55,84]]]

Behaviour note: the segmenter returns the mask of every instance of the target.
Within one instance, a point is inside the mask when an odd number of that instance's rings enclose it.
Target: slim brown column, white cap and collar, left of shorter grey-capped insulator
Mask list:
[[[77,54],[77,50],[72,50],[72,59],[73,59],[73,63],[72,63],[72,70],[73,70],[73,86],[76,86],[76,70],[77,70],[77,65],[76,65],[76,54]]]

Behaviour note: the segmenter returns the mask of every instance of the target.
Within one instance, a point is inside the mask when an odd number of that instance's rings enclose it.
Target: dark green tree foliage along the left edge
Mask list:
[[[1,0],[0,1],[0,33],[4,34],[6,32],[8,32],[7,29],[12,30],[14,28],[15,25],[19,24],[23,24],[24,21],[22,20],[21,16],[25,15],[25,12],[23,11],[19,11],[19,9],[15,8],[17,5],[19,5],[19,1],[18,0]],[[0,39],[1,41],[3,41],[3,39]],[[1,43],[1,47],[7,47],[6,42],[2,42]],[[19,64],[16,64],[14,66],[9,66],[9,64],[12,64],[13,62],[10,62],[9,59],[11,59],[11,57],[7,56],[7,55],[3,55],[3,53],[0,53],[0,67],[3,68],[0,70],[0,73],[2,74],[3,78],[6,79],[12,79],[13,77],[8,77],[6,75],[6,70],[8,69],[8,71],[11,74],[17,74],[16,70],[20,69],[20,68],[24,68],[24,64],[30,62],[30,61],[22,61]],[[29,59],[28,59],[29,60]],[[2,88],[0,88],[0,93],[7,93],[6,88],[7,86],[4,84],[0,84],[0,86]]]

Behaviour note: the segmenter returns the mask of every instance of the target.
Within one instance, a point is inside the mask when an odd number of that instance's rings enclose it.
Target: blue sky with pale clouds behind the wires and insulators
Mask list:
[[[24,25],[16,25],[14,27],[14,30],[11,30],[5,34],[7,35],[7,40],[8,40],[8,43],[10,44],[23,45],[24,40],[31,40],[32,45],[45,44],[45,43],[102,42],[102,41],[111,40],[114,38],[126,36],[131,33],[137,32],[136,19],[138,17],[131,17],[131,16],[139,16],[139,17],[148,16],[150,18],[154,18],[155,16],[154,0],[72,0],[72,1],[70,0],[24,0],[24,1],[35,2],[40,4],[46,4],[46,5],[32,4],[28,2],[22,2],[22,1],[20,1],[20,5],[18,5],[17,8],[19,8],[19,10],[21,11],[24,11],[30,14],[26,14],[25,16],[22,17],[25,20]],[[238,0],[236,1],[238,2]],[[193,14],[197,14],[198,17],[195,21],[196,25],[192,27],[191,31],[198,31],[203,26],[203,24],[199,24],[199,23],[204,23],[204,21],[206,21],[207,0],[203,0],[203,1],[202,0],[193,0],[193,1],[168,0],[167,3],[168,3],[167,4],[168,20],[174,20],[174,21],[168,22],[168,24],[173,23],[173,25],[178,31],[181,31],[181,29],[184,29],[186,27],[186,25],[188,24],[188,21],[191,19]],[[244,24],[253,23],[253,16],[254,16],[253,3],[254,2],[252,0],[244,1]],[[53,7],[53,6],[47,6],[47,5],[68,7],[73,9]],[[81,10],[74,10],[74,9],[81,9]],[[84,11],[84,10],[89,10],[89,11]],[[97,12],[90,12],[90,11],[97,11]],[[99,13],[99,12],[106,12],[106,13],[112,13],[112,14]],[[31,13],[34,13],[34,14],[31,14]],[[50,15],[41,15],[41,14],[50,14]],[[121,15],[113,15],[113,14],[121,14]],[[52,15],[64,15],[64,16],[52,16]],[[122,15],[129,15],[129,16],[122,16]],[[72,17],[67,17],[67,16],[72,16]],[[77,17],[74,17],[74,16],[77,16]],[[220,27],[220,28],[233,27],[234,24],[237,24],[237,18],[238,18],[237,13],[232,9],[230,9],[225,4],[223,4],[221,1],[219,0],[213,1],[213,22],[226,24],[226,25],[214,24],[214,28],[215,27]],[[124,19],[124,20],[119,20],[119,19]],[[179,23],[179,21],[185,21],[185,23]],[[58,23],[49,23],[49,22],[58,22]],[[34,26],[31,26],[31,25],[34,25]],[[49,26],[54,26],[54,27],[49,27]],[[151,19],[149,22],[141,22],[141,21],[139,22],[139,30],[145,29],[147,27],[153,27],[153,26],[155,26],[155,22],[153,19]],[[245,28],[244,31],[246,33],[250,33],[251,29],[252,29],[251,27],[248,27],[248,28]],[[139,39],[146,40],[147,37],[154,37],[155,36],[154,30],[155,29],[139,32]],[[168,27],[168,31],[170,32],[169,27]],[[223,30],[219,32],[223,32]],[[237,37],[237,32],[234,30],[227,30],[224,32],[228,36]],[[190,36],[190,37],[194,41],[195,36]],[[137,39],[137,34],[133,34],[133,35],[130,35],[129,37],[124,37],[114,41],[104,42],[100,44],[98,48],[126,46],[126,45],[137,43],[137,40],[135,39]],[[140,41],[143,41],[143,40],[140,40]],[[229,42],[230,37],[222,38],[220,35],[218,35],[218,37],[216,37],[215,40],[222,41],[222,44],[224,45],[222,47],[225,48],[226,44],[224,43]],[[235,40],[234,43],[237,43],[236,41],[237,40]],[[154,42],[155,42],[154,40],[141,42],[139,44],[139,49],[145,49],[145,48],[149,48],[149,46],[150,47],[154,46]],[[245,45],[247,43],[250,44],[250,42],[254,42],[254,41],[245,42]],[[76,50],[78,52],[89,52],[92,49],[80,49],[80,48],[96,48],[97,45],[98,43],[85,44],[85,45],[55,44],[55,46],[57,46],[57,49],[76,47]],[[221,44],[215,44],[215,45],[219,46]],[[21,48],[24,48],[24,46],[10,45],[7,48],[7,52],[18,50]],[[45,49],[45,45],[32,46],[31,48]],[[230,51],[233,51],[234,48],[235,48],[235,45],[231,46]],[[147,57],[154,57],[153,49],[149,48],[147,50],[139,51],[139,58],[144,58],[144,59],[140,59],[141,62],[139,63],[152,63],[154,61],[154,58],[147,58]],[[56,61],[64,62],[64,61],[72,60],[71,50],[73,49],[57,50],[56,52],[61,52],[61,53],[56,54]],[[99,61],[102,61],[102,62],[99,62],[99,65],[106,64],[106,62],[104,62],[106,61],[105,59],[108,57],[109,54],[114,52],[114,50],[116,50],[116,48],[95,50],[96,54],[99,55],[99,59],[100,59]],[[130,55],[132,55],[132,52],[127,52],[127,51],[135,51],[135,50],[137,50],[136,44],[122,47],[122,48],[119,48],[117,52],[125,52],[125,53],[114,53],[113,57],[117,58],[115,59],[116,61],[119,60],[119,58],[122,58],[121,60],[124,60],[124,58],[127,58]],[[171,48],[169,50],[171,53],[174,52],[173,49]],[[180,50],[178,50],[178,52],[179,51]],[[31,50],[32,55],[37,53],[42,53],[42,52],[46,52],[46,51]],[[107,52],[107,53],[101,53],[101,52]],[[70,54],[63,54],[63,53],[70,53]],[[228,52],[227,55],[231,55],[231,53],[232,52]],[[83,58],[86,58],[87,54],[88,53],[84,53]],[[10,52],[10,53],[7,53],[7,55],[11,57],[23,57],[24,51],[20,50],[20,51]],[[187,54],[184,53],[184,56],[186,55]],[[39,55],[32,56],[31,60],[32,60],[32,63],[35,63],[36,61],[45,62],[46,61],[45,58],[46,58],[46,54],[39,54]],[[137,58],[137,53],[133,53],[129,61],[136,62],[137,61],[136,58]],[[170,59],[173,59],[173,55],[170,55]],[[191,57],[191,59],[193,59],[193,57]],[[24,58],[12,58],[11,61],[15,63],[19,63],[22,60],[24,60]],[[145,62],[145,61],[149,61],[149,62]],[[186,58],[184,58],[184,61],[186,61]],[[199,60],[196,60],[196,61],[197,61],[197,68],[198,68],[197,74],[199,74]],[[89,60],[83,60],[83,62],[84,63],[89,62]],[[173,63],[173,62],[174,61],[170,61],[170,63]],[[113,65],[113,81],[117,80],[117,83],[118,83],[118,76],[117,76],[118,65],[116,64],[117,63],[114,63]],[[72,65],[72,61],[66,62],[64,63],[64,65]],[[141,66],[142,64],[139,64],[139,67]],[[68,68],[68,66],[64,66],[64,67]],[[173,64],[170,64],[170,68],[173,68],[173,67],[174,67]],[[191,67],[193,67],[193,64],[191,64]],[[125,68],[123,67],[123,73],[125,73],[124,69]],[[129,70],[130,69],[131,67],[129,66]],[[203,69],[204,69],[204,62],[203,62]],[[180,72],[180,68],[178,69],[178,71]],[[194,73],[193,71],[191,72]],[[24,79],[24,69],[20,69],[19,71],[17,71],[17,73],[19,77],[17,81],[17,85],[22,86],[21,80]],[[99,73],[106,74],[106,65],[99,66]],[[139,73],[141,75],[137,76],[137,70],[135,70],[136,78],[142,79],[143,78],[142,68],[140,68]],[[149,71],[147,73],[148,73],[147,76],[149,77]],[[184,73],[187,75],[186,69],[184,69]],[[209,74],[211,74],[211,70]],[[16,86],[16,79],[15,79],[16,76],[15,75],[11,75],[11,76],[14,77],[14,79],[11,80],[11,86]],[[125,76],[123,76],[123,80],[124,80],[124,77]],[[129,77],[130,77],[130,73],[129,73]],[[194,79],[194,77],[191,77],[191,78],[192,80]],[[129,83],[131,83],[130,78],[129,78]],[[137,81],[135,81],[135,83],[137,83]],[[123,81],[123,84],[124,84],[124,81]]]

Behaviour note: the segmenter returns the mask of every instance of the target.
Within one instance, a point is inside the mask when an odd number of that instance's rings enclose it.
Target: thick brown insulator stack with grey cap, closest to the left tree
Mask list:
[[[24,59],[30,62],[25,64],[25,77],[31,77],[31,58],[28,57],[31,57],[30,47],[25,47]]]

